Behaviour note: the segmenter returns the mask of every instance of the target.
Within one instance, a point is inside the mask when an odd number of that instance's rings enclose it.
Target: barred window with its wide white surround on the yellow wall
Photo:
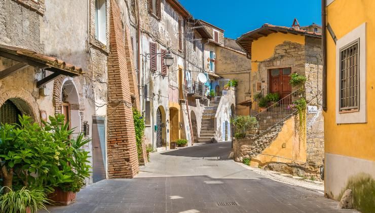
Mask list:
[[[328,81],[327,87],[335,88],[337,124],[367,123],[366,24],[336,41],[335,83]]]

